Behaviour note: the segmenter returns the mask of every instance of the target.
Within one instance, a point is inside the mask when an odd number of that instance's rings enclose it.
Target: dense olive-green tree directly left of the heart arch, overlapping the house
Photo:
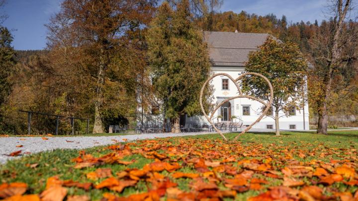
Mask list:
[[[164,2],[150,24],[147,41],[154,86],[172,132],[178,133],[181,115],[200,113],[199,93],[210,73],[207,47],[191,21],[189,1],[182,0],[176,9]],[[211,102],[208,94],[204,100]]]

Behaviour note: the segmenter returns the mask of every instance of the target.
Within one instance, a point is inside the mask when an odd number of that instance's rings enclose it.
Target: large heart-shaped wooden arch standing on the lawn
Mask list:
[[[256,75],[256,76],[260,76],[262,78],[264,78],[264,80],[268,83],[269,85],[269,89],[270,89],[270,99],[269,99],[269,102],[268,103],[265,103],[263,100],[259,99],[259,98],[256,98],[256,97],[253,97],[253,96],[249,96],[249,95],[244,95],[239,84],[238,84],[238,81],[240,79],[242,79],[244,76],[246,75],[249,75],[249,74],[252,74],[252,75]],[[206,84],[212,80],[214,77],[216,76],[219,76],[219,75],[223,75],[223,76],[226,76],[228,77],[231,81],[234,82],[234,84],[236,85],[236,88],[238,89],[239,91],[239,95],[238,96],[234,96],[234,97],[230,97],[230,98],[227,98],[225,99],[223,102],[221,102],[218,106],[216,106],[216,108],[214,109],[214,111],[211,113],[210,117],[207,116],[205,110],[204,110],[204,107],[203,107],[203,104],[202,104],[202,96],[203,96],[203,93],[204,93],[204,89],[205,89],[205,86]],[[247,127],[243,132],[241,132],[238,136],[240,136],[241,134],[244,134],[245,132],[249,131],[256,123],[260,122],[260,120],[269,112],[269,108],[272,104],[272,101],[273,101],[273,88],[272,88],[272,84],[271,82],[269,81],[269,79],[267,77],[265,77],[264,75],[260,74],[260,73],[256,73],[256,72],[245,72],[243,74],[241,74],[238,78],[234,79],[231,75],[227,74],[227,73],[216,73],[214,75],[212,75],[209,79],[207,79],[203,86],[201,87],[201,91],[200,91],[200,108],[201,108],[201,111],[203,112],[205,118],[208,120],[208,122],[211,124],[211,126],[213,126],[213,128],[215,129],[215,131],[217,133],[219,133],[223,138],[224,140],[227,141],[226,137],[222,134],[222,132],[220,130],[218,130],[215,126],[215,124],[212,122],[212,118],[214,116],[214,114],[216,113],[216,111],[225,103],[227,103],[228,101],[230,100],[233,100],[233,99],[236,99],[236,98],[249,98],[249,99],[252,99],[252,100],[256,100],[256,101],[259,101],[260,103],[262,103],[263,105],[266,106],[264,112],[260,115],[260,117],[254,122],[252,123],[249,127]],[[236,136],[235,139],[238,137]]]

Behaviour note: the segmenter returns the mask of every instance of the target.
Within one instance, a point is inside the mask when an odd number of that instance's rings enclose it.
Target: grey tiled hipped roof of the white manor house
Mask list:
[[[269,34],[204,31],[213,66],[245,66],[249,52],[258,50]]]

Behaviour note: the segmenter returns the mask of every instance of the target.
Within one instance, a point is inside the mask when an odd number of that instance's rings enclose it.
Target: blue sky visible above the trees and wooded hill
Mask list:
[[[59,11],[61,0],[7,0],[1,10],[9,17],[4,26],[12,30],[16,50],[39,50],[46,47],[46,28],[51,15]],[[303,20],[314,22],[324,19],[327,0],[224,0],[221,11],[233,10],[281,17],[288,22]]]

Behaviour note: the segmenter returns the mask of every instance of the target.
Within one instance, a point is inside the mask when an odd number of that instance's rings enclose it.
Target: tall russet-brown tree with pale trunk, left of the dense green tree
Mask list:
[[[135,97],[130,102],[117,98],[135,94],[133,69],[145,65],[139,46],[155,5],[156,0],[64,0],[47,25],[49,48],[70,56],[64,65],[85,77],[90,90],[82,93],[93,103],[93,133],[104,132],[103,118],[133,109]]]

